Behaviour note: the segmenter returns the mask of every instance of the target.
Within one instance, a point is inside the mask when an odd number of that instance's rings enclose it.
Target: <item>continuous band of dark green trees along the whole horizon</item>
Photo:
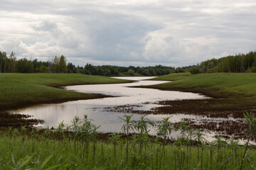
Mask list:
[[[67,57],[61,55],[48,59],[47,62],[37,59],[28,60],[22,58],[17,60],[16,54],[11,52],[0,52],[0,73],[82,73],[101,76],[161,76],[170,73],[191,72],[213,73],[213,72],[256,72],[256,52],[247,54],[229,55],[219,59],[211,59],[201,62],[197,65],[186,67],[166,67],[156,65],[154,67],[120,67],[112,65],[94,66],[86,64],[85,67],[75,66],[68,62]]]

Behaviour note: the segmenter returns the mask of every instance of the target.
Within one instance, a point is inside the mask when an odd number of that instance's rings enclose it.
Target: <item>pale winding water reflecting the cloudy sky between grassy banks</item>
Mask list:
[[[167,100],[182,100],[182,99],[203,99],[207,98],[201,94],[185,93],[180,91],[159,91],[157,89],[143,89],[132,88],[132,86],[162,84],[167,81],[148,81],[150,77],[118,77],[119,79],[133,79],[137,80],[129,84],[99,84],[99,85],[80,85],[80,86],[66,86],[65,89],[80,91],[82,93],[105,94],[114,97],[100,98],[93,100],[70,101],[60,104],[46,104],[40,106],[33,106],[30,108],[20,109],[15,113],[33,115],[33,118],[45,120],[43,127],[56,127],[58,123],[64,121],[65,124],[71,125],[71,120],[78,115],[83,118],[86,114],[88,118],[92,119],[95,125],[101,125],[101,132],[119,132],[122,128],[123,122],[119,117],[125,114],[131,114],[129,110],[149,111],[151,108],[157,107],[157,101]],[[127,107],[129,106],[129,107]],[[116,108],[126,108],[118,110]],[[162,118],[171,115],[146,115],[146,118],[159,122]],[[141,114],[134,114],[132,120],[139,120]],[[202,116],[184,115],[177,113],[172,115],[171,122],[178,123],[186,119],[196,120],[200,123],[205,120]],[[213,120],[214,121],[214,120]],[[156,130],[153,126],[150,134],[156,135]],[[178,132],[174,132],[172,137],[176,137]],[[205,132],[208,140],[212,140],[215,132]]]

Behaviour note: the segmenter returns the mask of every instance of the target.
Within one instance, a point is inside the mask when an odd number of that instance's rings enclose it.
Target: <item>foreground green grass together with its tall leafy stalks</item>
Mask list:
[[[113,133],[108,142],[97,140],[95,125],[85,117],[75,117],[73,125],[60,123],[55,130],[9,128],[0,137],[0,169],[255,169],[256,151],[249,142],[238,145],[233,139],[217,136],[207,142],[201,132],[176,126],[164,118],[158,125],[161,138],[149,137],[142,118],[134,123],[132,115],[122,120],[124,135]],[[255,136],[256,118],[245,115],[248,140]],[[167,138],[177,128],[183,130],[171,144]],[[72,130],[73,132],[70,132]],[[138,134],[132,134],[137,130]]]

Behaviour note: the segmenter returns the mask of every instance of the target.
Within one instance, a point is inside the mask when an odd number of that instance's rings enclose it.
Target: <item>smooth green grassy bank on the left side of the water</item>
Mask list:
[[[130,81],[84,74],[0,74],[0,111],[41,103],[103,97],[100,94],[82,94],[55,88],[58,86],[127,82]]]

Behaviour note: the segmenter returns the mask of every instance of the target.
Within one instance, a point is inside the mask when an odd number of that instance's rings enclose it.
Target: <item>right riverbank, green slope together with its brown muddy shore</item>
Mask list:
[[[160,105],[146,114],[185,114],[205,118],[189,121],[191,127],[213,130],[223,136],[244,138],[243,113],[256,110],[256,74],[169,74],[154,80],[171,81],[166,84],[144,86],[167,91],[193,92],[210,96],[203,100],[159,101]],[[132,113],[138,113],[133,111]],[[213,120],[212,120],[213,119]],[[218,120],[218,121],[216,121]]]

